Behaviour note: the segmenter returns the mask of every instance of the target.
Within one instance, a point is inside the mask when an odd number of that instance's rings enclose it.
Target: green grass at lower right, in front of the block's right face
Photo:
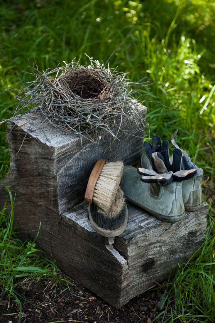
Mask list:
[[[186,264],[179,265],[176,273],[170,273],[161,301],[161,308],[164,304],[166,307],[156,317],[157,322],[215,321],[215,236],[211,234],[211,212],[209,220],[203,245]]]

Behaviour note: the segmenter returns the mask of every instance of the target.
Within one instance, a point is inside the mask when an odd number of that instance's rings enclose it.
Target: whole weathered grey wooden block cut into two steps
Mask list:
[[[140,111],[146,113],[145,108]],[[41,223],[38,247],[68,275],[121,307],[168,277],[173,264],[186,261],[202,244],[207,204],[175,224],[128,204],[128,224],[120,236],[108,239],[92,228],[88,204],[82,201],[95,162],[136,163],[143,133],[136,133],[141,138],[122,137],[109,150],[108,138],[99,145],[85,140],[81,145],[77,136],[61,134],[46,123],[41,129],[41,120],[15,130],[27,121],[8,122],[11,167],[0,183],[0,209],[7,195],[4,186],[11,185],[20,237],[34,238]]]

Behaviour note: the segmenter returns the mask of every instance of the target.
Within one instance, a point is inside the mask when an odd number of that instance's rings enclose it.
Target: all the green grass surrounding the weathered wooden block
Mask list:
[[[176,141],[203,168],[205,199],[211,200],[215,169],[213,2],[105,0],[101,5],[98,0],[80,0],[78,3],[68,0],[8,0],[0,4],[0,13],[0,83],[3,88],[20,89],[20,79],[24,83],[31,80],[31,75],[20,71],[29,71],[28,59],[32,65],[35,58],[40,70],[55,68],[64,60],[70,62],[74,57],[79,58],[81,52],[105,62],[123,42],[110,58],[110,66],[118,66],[122,72],[131,71],[132,81],[144,77],[153,80],[148,89],[139,89],[145,95],[151,135],[159,134],[162,140],[169,139],[179,129]],[[84,55],[81,62],[85,63]],[[0,119],[6,119],[14,111],[16,101],[8,92],[2,94],[0,100]],[[9,169],[10,154],[5,131],[6,125],[3,124],[0,126],[0,180]],[[148,137],[146,130],[145,139]],[[157,319],[160,322],[177,319],[180,322],[214,321],[213,208],[210,207],[212,216],[200,256],[181,266],[168,283],[168,306]],[[10,239],[14,228],[10,226],[12,214],[6,224],[4,212],[1,213],[1,221],[6,231],[1,239],[5,248],[5,245],[13,245]],[[6,232],[11,234],[9,239]],[[11,262],[7,258],[10,266],[4,267],[5,271],[10,268],[5,278],[7,285],[4,286],[7,286],[5,293],[11,297],[18,297],[13,292],[16,289],[13,275],[23,273],[20,268],[14,271],[18,267],[17,261],[23,257],[19,257],[19,253],[23,252],[28,259],[27,265],[21,267],[45,268],[47,265],[45,271],[54,268],[46,258],[34,258],[36,254],[30,252],[31,248],[35,250],[34,243],[26,245],[18,240],[16,243],[20,247],[18,254],[16,250]],[[12,252],[13,249],[7,250]],[[4,257],[8,257],[6,249]],[[30,271],[24,272],[31,275]],[[35,275],[39,279],[43,274],[33,269],[32,276]],[[173,300],[171,303],[170,299]]]

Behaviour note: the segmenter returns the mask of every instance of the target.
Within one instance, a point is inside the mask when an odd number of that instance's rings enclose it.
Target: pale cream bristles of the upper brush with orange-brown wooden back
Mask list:
[[[105,212],[108,212],[118,191],[122,178],[123,161],[104,164],[97,179],[93,202]]]

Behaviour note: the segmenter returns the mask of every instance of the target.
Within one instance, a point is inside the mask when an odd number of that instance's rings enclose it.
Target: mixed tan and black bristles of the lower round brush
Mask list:
[[[91,216],[93,221],[102,229],[106,230],[116,230],[118,229],[125,221],[126,216],[126,203],[124,194],[120,187],[111,205],[108,213],[104,213],[101,208],[97,208],[95,204],[90,206]]]

